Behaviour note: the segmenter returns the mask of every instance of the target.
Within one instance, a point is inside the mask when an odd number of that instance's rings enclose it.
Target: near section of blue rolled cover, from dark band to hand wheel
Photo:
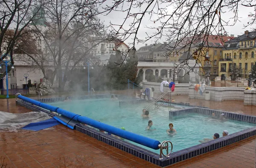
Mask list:
[[[148,137],[145,137],[145,136],[141,136],[141,135],[138,135],[136,133],[131,133],[129,131],[122,130],[122,129],[117,128],[117,127],[113,127],[111,125],[107,125],[107,124],[104,124],[102,122],[98,122],[98,121],[90,119],[88,117],[79,116],[77,119],[78,119],[77,121],[79,121],[79,122],[90,125],[92,127],[96,127],[100,130],[104,130],[108,133],[112,133],[114,135],[120,136],[124,139],[128,139],[128,140],[136,142],[138,144],[144,145],[148,148],[152,148],[152,149],[155,149],[155,150],[159,149],[158,145],[160,144],[160,142],[155,140],[155,139],[151,139],[151,138],[148,138]]]

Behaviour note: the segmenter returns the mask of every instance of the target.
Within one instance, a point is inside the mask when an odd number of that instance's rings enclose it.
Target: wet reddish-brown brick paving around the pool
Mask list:
[[[175,102],[205,104],[215,109],[256,115],[256,106],[244,106],[243,101],[215,102],[189,99],[186,96],[173,98]],[[24,107],[16,106],[15,99],[8,101],[1,99],[0,109],[10,113],[29,111]],[[255,138],[256,136],[167,167],[254,168]],[[7,168],[158,167],[63,125],[57,125],[52,130],[37,132],[26,130],[18,133],[2,132],[0,133],[0,156],[2,160],[5,158]]]

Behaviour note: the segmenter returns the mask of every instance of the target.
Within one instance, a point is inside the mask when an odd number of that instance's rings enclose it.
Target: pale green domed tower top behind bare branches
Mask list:
[[[45,17],[45,10],[44,8],[36,7],[33,10],[33,16],[34,18],[32,19],[32,25],[38,26],[47,26],[48,23],[46,22],[46,17]]]

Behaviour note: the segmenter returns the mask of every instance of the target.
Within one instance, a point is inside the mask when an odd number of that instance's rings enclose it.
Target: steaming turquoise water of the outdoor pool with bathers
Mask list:
[[[222,137],[223,130],[228,130],[229,134],[231,134],[256,126],[256,124],[235,120],[221,121],[218,118],[212,118],[211,116],[197,113],[169,119],[168,107],[160,107],[160,109],[155,112],[154,105],[149,109],[150,118],[143,119],[141,116],[142,110],[147,107],[149,103],[129,104],[119,107],[119,100],[90,99],[53,102],[48,104],[81,116],[87,116],[108,125],[119,128],[125,127],[125,129],[130,132],[147,136],[160,142],[169,140],[173,144],[173,151],[180,151],[198,145],[200,144],[200,142],[198,142],[199,140],[212,138],[214,133],[219,133],[220,137]],[[185,108],[185,106],[175,105],[172,107],[172,110],[179,108]],[[152,127],[154,127],[155,130],[145,130],[145,127],[148,125],[148,120],[153,121]],[[166,133],[166,130],[169,129],[169,123],[174,125],[174,129],[177,130],[177,133],[170,135]],[[131,143],[158,153],[157,150],[147,148],[135,142]]]

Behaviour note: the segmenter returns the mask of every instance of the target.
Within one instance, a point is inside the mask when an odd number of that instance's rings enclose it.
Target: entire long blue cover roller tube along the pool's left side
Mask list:
[[[136,133],[131,133],[129,131],[122,130],[120,128],[116,128],[116,127],[113,127],[111,125],[107,125],[105,123],[98,122],[98,121],[90,119],[88,117],[80,116],[80,115],[77,115],[75,113],[71,113],[70,111],[63,110],[61,108],[54,107],[54,106],[49,105],[49,104],[41,103],[40,101],[35,101],[35,100],[33,100],[31,98],[27,98],[25,96],[19,95],[19,96],[17,96],[17,98],[20,98],[21,100],[27,101],[31,104],[35,104],[39,107],[45,108],[47,110],[54,111],[54,112],[59,113],[63,116],[66,116],[70,119],[74,119],[78,122],[90,125],[92,127],[98,128],[100,130],[104,130],[108,133],[112,133],[112,134],[114,134],[116,136],[119,136],[119,137],[122,137],[124,139],[128,139],[132,142],[136,142],[140,145],[144,145],[148,148],[152,148],[152,149],[155,149],[155,150],[159,149],[158,145],[160,144],[160,142],[155,140],[155,139],[151,139],[151,138],[148,138],[148,137],[145,137],[145,136],[141,136],[141,135],[138,135]],[[56,118],[57,117],[55,117],[54,119],[56,119]],[[61,121],[60,119],[57,118],[56,120],[61,122],[63,125],[66,125],[67,127],[73,129],[73,127],[71,127],[70,125],[67,125],[67,123]]]

